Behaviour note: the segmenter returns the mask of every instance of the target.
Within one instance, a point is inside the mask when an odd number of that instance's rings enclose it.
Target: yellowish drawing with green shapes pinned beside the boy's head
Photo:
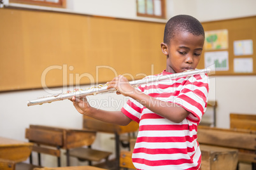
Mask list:
[[[205,32],[205,50],[229,48],[228,30],[210,30]]]

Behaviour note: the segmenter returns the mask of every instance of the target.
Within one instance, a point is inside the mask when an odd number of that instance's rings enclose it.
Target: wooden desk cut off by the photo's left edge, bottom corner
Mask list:
[[[14,168],[16,163],[27,160],[32,145],[32,143],[0,137],[0,169],[4,169],[4,166]]]

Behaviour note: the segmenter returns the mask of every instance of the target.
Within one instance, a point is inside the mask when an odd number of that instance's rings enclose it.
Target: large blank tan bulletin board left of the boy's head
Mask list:
[[[0,9],[0,91],[130,81],[166,68],[164,23]]]

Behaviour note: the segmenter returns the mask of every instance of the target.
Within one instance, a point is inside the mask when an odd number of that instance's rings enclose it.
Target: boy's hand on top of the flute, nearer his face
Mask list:
[[[118,75],[118,77],[115,77],[112,81],[107,82],[108,88],[115,88],[117,89],[117,94],[129,96],[132,93],[134,93],[134,88],[131,86],[129,81],[124,77],[123,75]]]

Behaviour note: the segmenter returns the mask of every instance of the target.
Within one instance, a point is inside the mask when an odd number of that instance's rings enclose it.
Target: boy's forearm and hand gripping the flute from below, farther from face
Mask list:
[[[76,98],[75,96],[73,96],[72,101],[76,110],[78,110],[80,114],[88,115],[89,117],[92,117],[99,121],[118,124],[121,126],[125,126],[132,121],[121,111],[106,111],[91,107],[86,97]]]

